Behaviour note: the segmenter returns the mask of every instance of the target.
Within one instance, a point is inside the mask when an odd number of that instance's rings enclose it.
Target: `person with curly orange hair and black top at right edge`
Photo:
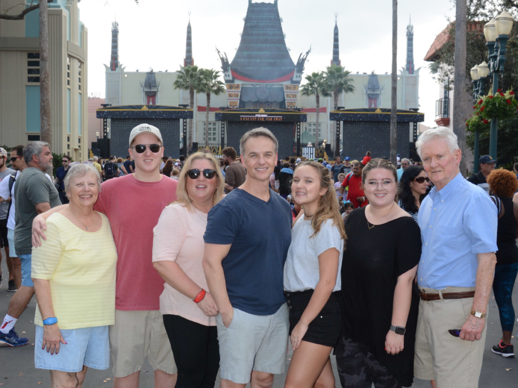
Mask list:
[[[518,181],[516,175],[508,170],[493,170],[487,177],[490,193],[498,209],[498,231],[496,234],[496,267],[493,280],[493,292],[495,301],[500,313],[500,324],[502,326],[502,339],[495,345],[493,353],[501,354],[504,357],[514,356],[514,349],[511,345],[511,335],[514,326],[514,308],[511,299],[516,274],[518,273],[518,204],[514,203],[512,197]]]

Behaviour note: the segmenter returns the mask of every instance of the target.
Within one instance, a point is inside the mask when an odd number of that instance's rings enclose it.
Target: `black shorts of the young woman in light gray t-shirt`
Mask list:
[[[314,290],[284,292],[290,310],[290,335],[308,306],[313,292]],[[322,311],[309,324],[303,340],[313,344],[335,347],[340,336],[340,320],[340,305],[336,294],[333,292]]]

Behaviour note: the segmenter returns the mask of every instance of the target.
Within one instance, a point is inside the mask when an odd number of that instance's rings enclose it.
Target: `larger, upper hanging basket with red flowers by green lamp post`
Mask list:
[[[518,101],[512,89],[506,93],[498,89],[494,95],[489,94],[480,98],[473,108],[473,115],[480,116],[481,120],[491,120],[493,117],[505,120],[518,112]]]

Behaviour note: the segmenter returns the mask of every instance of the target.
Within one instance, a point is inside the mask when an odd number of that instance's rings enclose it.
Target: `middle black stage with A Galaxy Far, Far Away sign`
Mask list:
[[[220,108],[215,112],[215,118],[221,122],[222,150],[226,146],[234,147],[239,155],[241,136],[251,129],[264,127],[269,129],[279,142],[279,159],[301,155],[300,123],[308,120],[307,113],[301,109]]]

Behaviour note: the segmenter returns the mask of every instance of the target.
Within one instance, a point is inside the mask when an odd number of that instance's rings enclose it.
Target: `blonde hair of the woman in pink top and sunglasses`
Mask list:
[[[216,190],[214,191],[214,196],[212,197],[212,204],[215,205],[223,198],[223,189],[225,188],[225,178],[223,177],[223,173],[219,167],[219,163],[212,154],[205,154],[203,152],[196,152],[189,156],[187,160],[185,160],[182,170],[180,171],[180,176],[178,177],[178,186],[176,188],[176,197],[178,198],[175,202],[172,203],[180,203],[183,206],[187,207],[190,212],[194,213],[194,206],[192,204],[191,199],[189,198],[189,194],[187,192],[187,172],[191,170],[191,166],[193,161],[199,159],[207,159],[212,163],[212,168],[216,172],[215,178],[218,180],[218,185],[216,186]]]

